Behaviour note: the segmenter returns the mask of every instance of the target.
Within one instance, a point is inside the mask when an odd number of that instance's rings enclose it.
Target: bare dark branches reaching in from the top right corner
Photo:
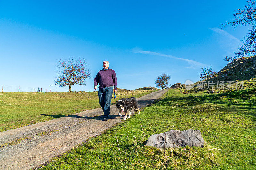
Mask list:
[[[231,25],[235,29],[238,25],[246,26],[251,24],[252,29],[242,40],[244,44],[238,48],[239,52],[234,53],[236,55],[234,58],[256,55],[256,1],[248,1],[248,5],[244,9],[237,9],[236,11],[234,14],[235,19],[222,24],[222,28]]]

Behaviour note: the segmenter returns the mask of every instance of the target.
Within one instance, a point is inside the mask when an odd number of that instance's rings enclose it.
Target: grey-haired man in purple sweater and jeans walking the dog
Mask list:
[[[114,70],[109,69],[109,62],[103,61],[103,69],[98,72],[94,78],[94,89],[97,89],[99,83],[99,103],[104,113],[104,121],[108,120],[110,113],[110,103],[114,92],[116,92],[117,78]]]

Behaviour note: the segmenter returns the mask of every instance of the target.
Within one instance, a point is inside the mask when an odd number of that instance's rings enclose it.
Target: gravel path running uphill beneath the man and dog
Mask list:
[[[149,105],[168,90],[137,98],[139,108]],[[111,105],[109,120],[102,119],[102,109],[97,108],[1,132],[0,145],[22,140],[19,144],[0,148],[0,169],[35,168],[123,120],[115,105]]]

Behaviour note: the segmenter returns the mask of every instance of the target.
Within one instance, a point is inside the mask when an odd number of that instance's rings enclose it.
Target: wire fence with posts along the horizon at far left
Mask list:
[[[51,89],[43,89],[40,87],[21,87],[21,86],[9,86],[9,85],[2,85],[0,92],[54,92]],[[55,91],[56,92],[56,91]]]

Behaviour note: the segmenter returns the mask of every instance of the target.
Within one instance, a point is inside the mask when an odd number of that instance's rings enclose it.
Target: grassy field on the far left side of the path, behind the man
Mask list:
[[[137,98],[154,91],[117,89],[116,96]],[[116,103],[114,94],[111,103]],[[98,92],[0,92],[0,132],[99,107]]]

